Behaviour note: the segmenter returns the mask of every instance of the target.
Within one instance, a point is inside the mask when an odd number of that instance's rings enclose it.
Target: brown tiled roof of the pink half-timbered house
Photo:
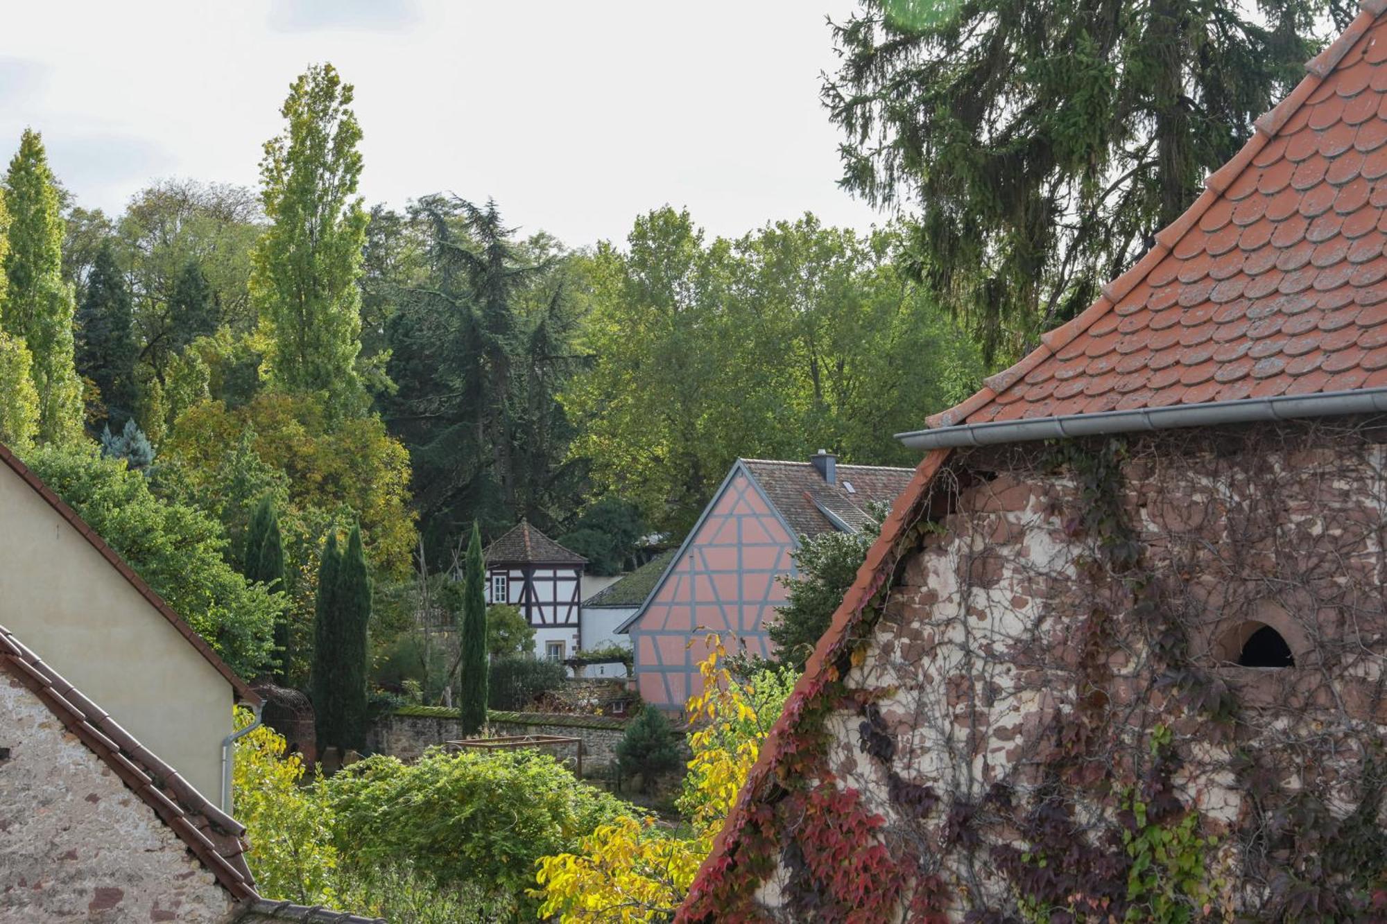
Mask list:
[[[911,469],[877,465],[839,465],[834,484],[810,462],[741,459],[770,502],[799,536],[818,536],[838,529],[827,509],[852,529],[870,519],[867,505],[890,504],[910,483]],[[853,487],[847,490],[847,484]]]

